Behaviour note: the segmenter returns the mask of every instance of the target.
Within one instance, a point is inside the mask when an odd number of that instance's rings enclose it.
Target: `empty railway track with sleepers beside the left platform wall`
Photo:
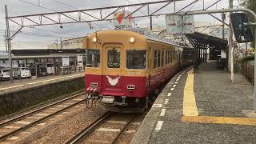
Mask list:
[[[43,106],[37,110],[33,110],[0,123],[0,142],[42,122],[46,118],[53,117],[63,110],[84,102],[85,98],[83,98],[83,94],[85,93],[81,92],[74,94],[69,98],[64,98],[58,102],[54,102],[50,105]]]

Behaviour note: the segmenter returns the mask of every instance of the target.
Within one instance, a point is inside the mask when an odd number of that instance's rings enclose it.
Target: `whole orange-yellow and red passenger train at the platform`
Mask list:
[[[145,110],[150,93],[192,63],[190,47],[143,31],[102,30],[83,38],[86,98],[107,110]]]

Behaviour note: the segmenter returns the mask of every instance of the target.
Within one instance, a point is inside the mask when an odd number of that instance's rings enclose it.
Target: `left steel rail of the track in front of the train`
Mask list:
[[[82,138],[90,132],[90,130],[93,130],[95,126],[98,126],[100,122],[103,122],[106,118],[110,116],[110,111],[106,112],[105,114],[102,114],[101,117],[97,118],[94,122],[90,123],[89,126],[86,126],[85,129],[78,132],[78,134],[74,135],[73,138],[70,138],[66,144],[74,144],[82,141]]]

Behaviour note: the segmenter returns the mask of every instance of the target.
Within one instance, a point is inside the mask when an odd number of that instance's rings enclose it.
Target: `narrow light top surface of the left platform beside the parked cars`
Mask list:
[[[72,78],[81,78],[85,74],[82,73],[74,73],[74,74],[66,74],[66,75],[58,75],[58,76],[49,76],[49,77],[41,77],[36,79],[22,79],[22,81],[10,83],[10,82],[0,82],[0,94],[10,93],[16,90],[25,90],[35,86],[42,86],[52,82],[62,82]]]

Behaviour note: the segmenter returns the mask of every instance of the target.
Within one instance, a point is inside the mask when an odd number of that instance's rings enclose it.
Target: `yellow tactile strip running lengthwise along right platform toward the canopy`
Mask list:
[[[194,74],[193,69],[188,72],[183,98],[183,115],[198,116],[198,107],[194,97]]]

